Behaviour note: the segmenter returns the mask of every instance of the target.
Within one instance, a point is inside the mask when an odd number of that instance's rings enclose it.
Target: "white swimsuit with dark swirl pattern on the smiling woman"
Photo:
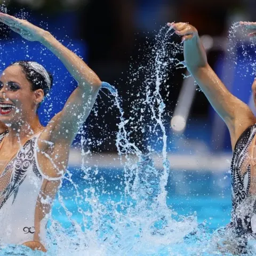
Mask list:
[[[6,135],[0,135],[0,143]],[[39,135],[20,148],[0,175],[0,245],[29,241],[44,244],[47,223],[44,209],[51,204],[46,200],[45,182],[62,177],[50,178],[40,170],[37,162]],[[38,203],[42,206],[38,207]]]

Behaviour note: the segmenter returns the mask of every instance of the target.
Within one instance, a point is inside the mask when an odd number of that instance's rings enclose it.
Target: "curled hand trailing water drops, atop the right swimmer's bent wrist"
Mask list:
[[[191,40],[194,36],[198,35],[196,28],[191,26],[188,23],[172,22],[172,23],[167,23],[167,26],[172,27],[178,36],[182,36],[182,38],[181,38],[182,42]]]

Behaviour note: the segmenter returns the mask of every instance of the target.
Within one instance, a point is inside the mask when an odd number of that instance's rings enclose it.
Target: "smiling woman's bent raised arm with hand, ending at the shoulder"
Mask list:
[[[75,53],[63,46],[48,31],[27,20],[0,13],[0,21],[29,41],[38,41],[52,51],[78,83],[63,110],[49,124],[52,140],[73,142],[79,127],[89,115],[101,86],[99,77]],[[53,129],[54,127],[54,129]],[[67,132],[68,131],[68,132]],[[62,141],[63,142],[63,141]]]

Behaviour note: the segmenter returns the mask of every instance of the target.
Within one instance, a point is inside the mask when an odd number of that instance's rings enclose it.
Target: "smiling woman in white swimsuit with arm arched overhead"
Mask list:
[[[44,127],[37,109],[51,89],[51,74],[37,62],[17,61],[0,77],[0,243],[46,251],[47,215],[66,172],[70,145],[94,105],[101,81],[48,31],[4,13],[0,21],[46,46],[78,83]]]

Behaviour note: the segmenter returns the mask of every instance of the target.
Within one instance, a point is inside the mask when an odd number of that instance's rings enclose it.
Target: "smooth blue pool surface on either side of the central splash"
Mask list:
[[[122,170],[120,169],[99,169],[97,174],[92,174],[90,182],[83,179],[84,173],[79,169],[69,168],[72,173],[72,180],[78,185],[78,190],[83,194],[85,188],[93,187],[100,195],[102,204],[109,198],[118,202],[123,194],[124,186],[121,186]],[[102,191],[105,191],[102,194]],[[63,181],[61,195],[64,198],[74,219],[81,221],[77,210],[77,203],[74,201],[74,186],[67,180]],[[79,199],[79,206],[87,210],[89,204]],[[219,227],[226,226],[230,222],[231,195],[230,177],[225,172],[204,172],[204,171],[171,171],[167,184],[167,205],[170,209],[180,215],[193,215],[196,213],[198,223],[206,222],[206,227],[213,231]],[[60,220],[64,225],[67,221],[65,212],[59,210],[58,201],[53,207],[54,219]]]

